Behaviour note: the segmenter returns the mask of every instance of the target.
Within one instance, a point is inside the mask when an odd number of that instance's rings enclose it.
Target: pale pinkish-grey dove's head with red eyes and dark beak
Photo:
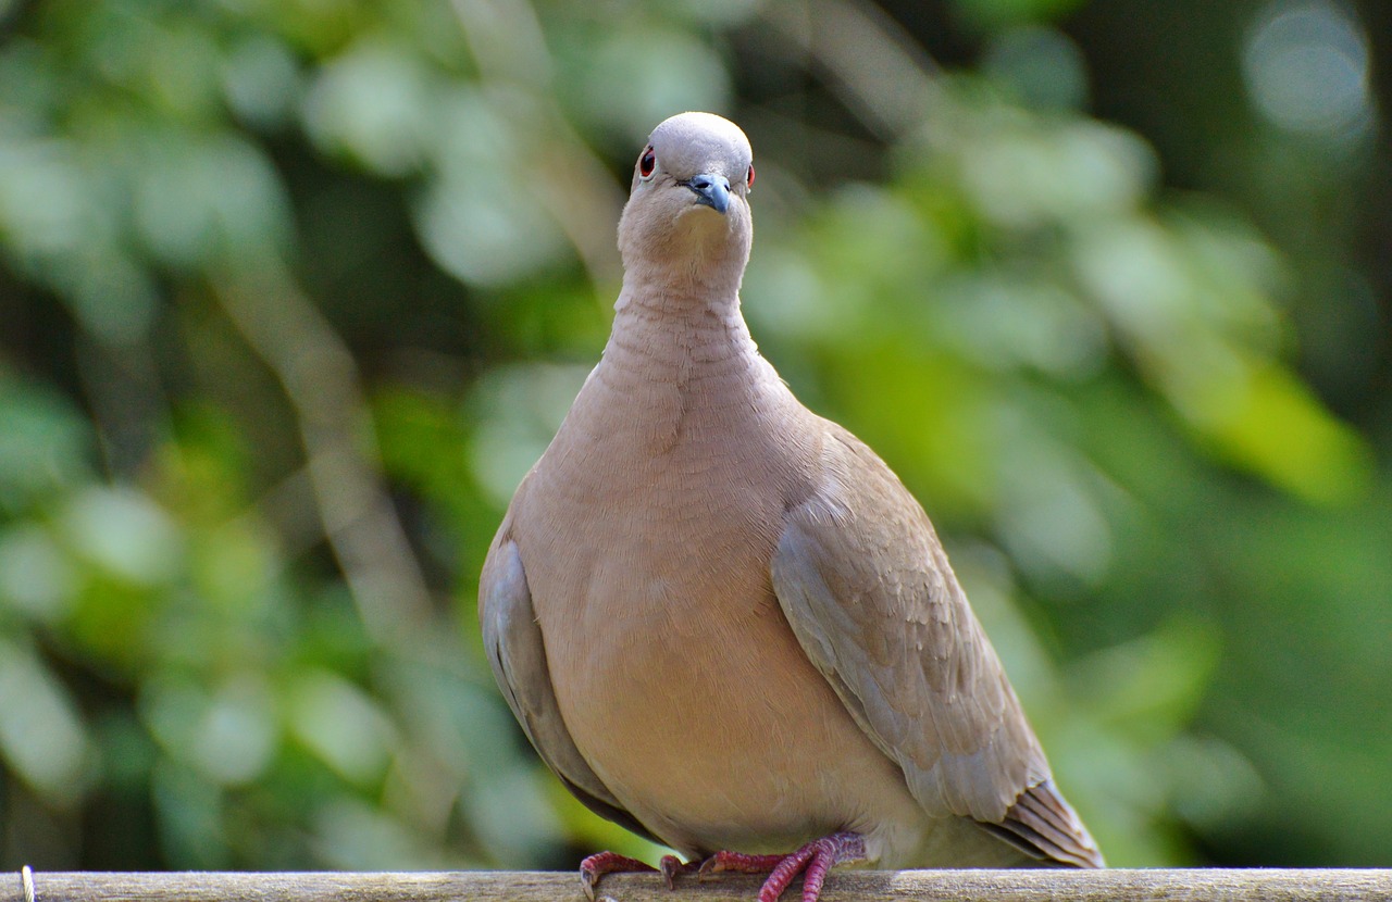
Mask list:
[[[710,113],[664,121],[633,164],[618,227],[624,266],[697,283],[732,273],[738,285],[753,237],[753,150],[738,125]]]

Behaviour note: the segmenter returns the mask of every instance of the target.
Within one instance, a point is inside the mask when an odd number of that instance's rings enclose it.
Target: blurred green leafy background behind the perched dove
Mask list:
[[[0,866],[654,852],[473,599],[686,109],[1109,860],[1392,866],[1389,60],[1382,0],[0,0]]]

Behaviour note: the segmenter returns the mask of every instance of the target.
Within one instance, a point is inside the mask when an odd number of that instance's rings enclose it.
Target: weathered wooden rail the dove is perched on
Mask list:
[[[3,877],[3,874],[0,874]],[[583,902],[579,877],[554,871],[86,873],[35,871],[35,902]],[[612,902],[753,902],[759,878],[611,874]],[[800,884],[784,902],[798,902]],[[1392,902],[1392,870],[916,870],[835,871],[823,902]],[[25,902],[11,871],[0,902]]]

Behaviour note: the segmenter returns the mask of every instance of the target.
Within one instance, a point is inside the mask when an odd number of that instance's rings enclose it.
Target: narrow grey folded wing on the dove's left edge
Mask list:
[[[619,805],[565,727],[551,686],[541,628],[532,610],[522,555],[508,537],[509,522],[511,518],[503,522],[479,580],[479,621],[493,676],[537,754],[575,798],[600,817],[660,842]]]

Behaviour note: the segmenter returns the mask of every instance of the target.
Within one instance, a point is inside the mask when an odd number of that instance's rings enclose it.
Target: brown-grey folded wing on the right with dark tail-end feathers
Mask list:
[[[926,812],[1101,866],[923,508],[864,443],[825,430],[820,486],[771,565],[798,642]]]

